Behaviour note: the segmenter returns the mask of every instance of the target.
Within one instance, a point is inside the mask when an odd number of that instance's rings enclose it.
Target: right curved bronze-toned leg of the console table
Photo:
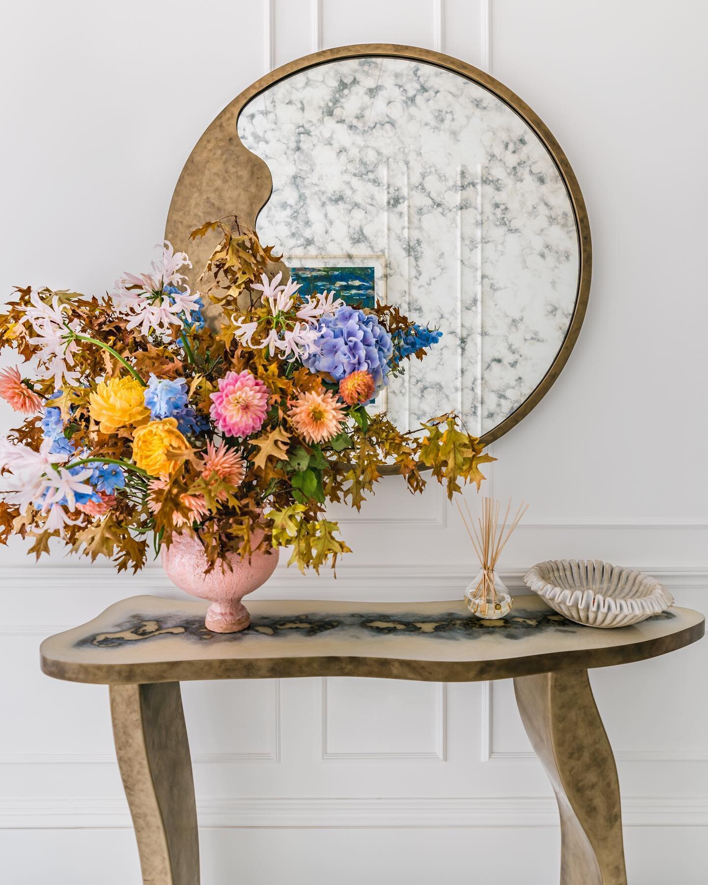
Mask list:
[[[587,670],[514,680],[560,812],[560,885],[627,885],[620,784]]]

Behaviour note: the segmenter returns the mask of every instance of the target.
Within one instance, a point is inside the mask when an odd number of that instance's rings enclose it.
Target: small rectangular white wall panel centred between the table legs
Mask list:
[[[325,759],[445,759],[445,686],[436,682],[322,681]]]

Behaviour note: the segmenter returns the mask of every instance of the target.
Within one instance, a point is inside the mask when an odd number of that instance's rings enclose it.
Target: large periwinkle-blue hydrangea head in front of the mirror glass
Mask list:
[[[366,371],[373,375],[377,390],[386,383],[393,344],[375,313],[345,304],[334,316],[319,320],[315,343],[321,352],[304,359],[311,372],[329,373],[335,381],[341,381],[352,372]]]

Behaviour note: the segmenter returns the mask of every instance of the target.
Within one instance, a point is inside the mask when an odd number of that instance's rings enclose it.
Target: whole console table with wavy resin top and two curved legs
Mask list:
[[[536,596],[504,620],[462,601],[253,601],[251,626],[219,635],[206,604],[134,596],[42,643],[42,670],[109,686],[142,881],[198,885],[192,767],[180,682],[296,676],[423,681],[513,678],[519,712],[560,812],[561,885],[626,885],[620,788],[588,669],[695,643],[704,617],[672,608],[633,627],[581,627]]]

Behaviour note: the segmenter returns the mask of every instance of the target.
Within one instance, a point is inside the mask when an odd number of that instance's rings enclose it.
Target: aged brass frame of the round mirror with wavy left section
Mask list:
[[[340,58],[363,58],[366,56],[406,58],[410,61],[426,62],[429,65],[441,67],[443,70],[457,73],[467,80],[479,84],[484,89],[489,89],[489,92],[519,114],[519,117],[527,123],[543,143],[558,169],[558,174],[573,206],[580,266],[575,306],[566,337],[548,371],[531,394],[511,415],[481,436],[481,442],[489,445],[519,424],[521,419],[526,418],[527,414],[548,393],[563,366],[566,365],[585,317],[592,273],[592,243],[588,212],[582,198],[580,185],[566,154],[551,135],[543,120],[531,110],[526,102],[515,95],[511,89],[507,89],[504,84],[491,77],[489,73],[484,73],[473,65],[467,65],[466,62],[443,55],[441,52],[418,49],[414,46],[400,46],[395,43],[360,43],[354,46],[341,46],[337,49],[313,52],[312,55],[297,58],[296,61],[276,68],[250,85],[248,89],[244,89],[241,95],[236,96],[230,104],[227,104],[219,116],[206,128],[204,135],[196,142],[174,189],[172,203],[167,214],[165,239],[173,243],[175,250],[184,250],[189,254],[189,258],[194,264],[189,280],[193,285],[198,269],[204,266],[217,241],[214,236],[207,235],[203,240],[190,242],[190,232],[206,220],[223,218],[233,214],[237,214],[247,225],[255,228],[258,212],[266,205],[273,192],[273,178],[266,162],[251,153],[238,136],[238,119],[243,108],[273,84],[286,80],[295,73]]]

